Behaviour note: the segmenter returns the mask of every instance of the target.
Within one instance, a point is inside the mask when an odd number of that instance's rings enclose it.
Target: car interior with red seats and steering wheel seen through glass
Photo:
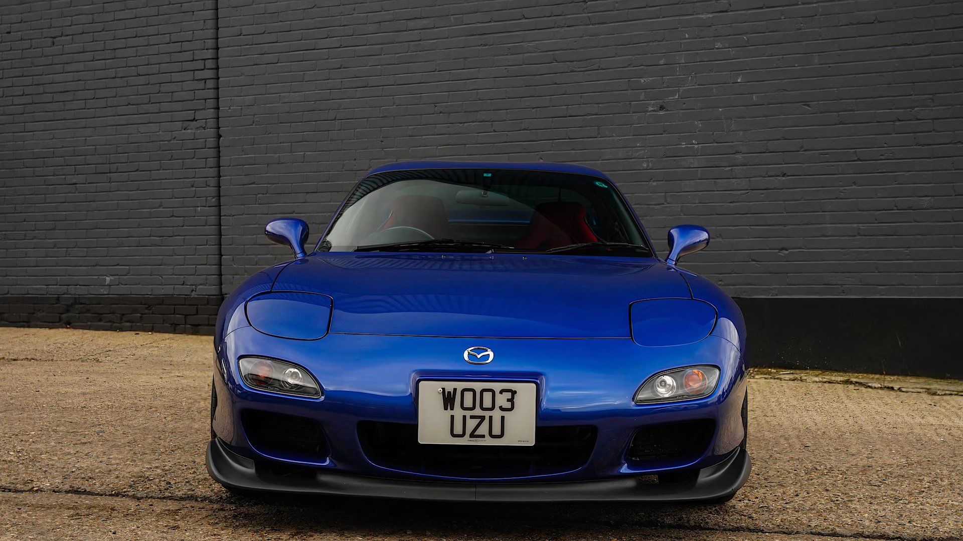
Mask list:
[[[425,177],[371,182],[362,185],[329,232],[331,245],[443,239],[543,251],[600,241],[632,243],[637,237],[626,229],[632,218],[617,194],[584,177],[488,184]]]

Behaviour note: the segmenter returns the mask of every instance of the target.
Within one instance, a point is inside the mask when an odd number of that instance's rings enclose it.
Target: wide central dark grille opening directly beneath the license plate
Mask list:
[[[361,447],[383,468],[466,478],[530,477],[578,470],[595,447],[592,425],[539,426],[535,445],[472,446],[418,443],[418,425],[363,421]]]

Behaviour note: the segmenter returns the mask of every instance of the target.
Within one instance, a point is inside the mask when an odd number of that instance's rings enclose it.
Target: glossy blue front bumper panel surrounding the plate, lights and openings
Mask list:
[[[482,343],[498,351],[497,366],[495,363],[471,365],[461,358],[465,348]],[[456,354],[452,354],[453,351]],[[324,386],[324,398],[301,399],[247,388],[237,373],[237,361],[243,355],[252,354],[267,354],[304,366]],[[713,395],[641,405],[633,401],[638,385],[648,376],[668,368],[698,364],[716,365],[721,369],[722,376]],[[602,483],[599,486],[607,487],[623,486],[619,483],[635,486],[640,484],[639,477],[715,472],[716,465],[732,457],[744,434],[740,416],[745,392],[742,355],[732,344],[715,336],[686,346],[643,348],[627,339],[479,340],[337,333],[330,333],[319,341],[294,341],[263,335],[247,327],[227,337],[218,351],[216,366],[220,374],[215,377],[217,399],[212,428],[219,441],[217,445],[232,456],[237,455],[235,463],[250,465],[238,470],[240,472],[249,473],[253,464],[261,466],[255,478],[262,480],[272,477],[272,466],[299,467],[312,472],[310,482],[300,479],[295,483],[306,482],[306,486],[314,487],[310,491],[317,491],[317,478],[321,477],[348,478],[351,486],[372,482],[371,479],[385,482],[391,479],[390,483],[401,483],[399,486],[451,485],[455,491],[471,490],[473,494],[494,490],[474,487],[503,484],[531,486],[535,492],[539,490],[537,487],[550,486],[553,493],[560,492],[561,486],[585,487],[584,482],[599,482]],[[421,379],[534,382],[539,393],[536,429],[590,425],[595,429],[595,442],[586,462],[580,466],[562,469],[553,464],[551,469],[543,469],[539,463],[534,471],[526,474],[489,469],[487,465],[480,475],[478,471],[439,471],[433,467],[387,463],[383,456],[366,447],[361,427],[372,422],[416,425],[416,391]],[[325,432],[327,453],[309,458],[255,445],[243,420],[251,410],[317,421]],[[646,462],[627,458],[630,443],[641,427],[700,420],[715,424],[712,440],[702,454]],[[538,441],[542,440],[538,438]],[[263,482],[249,486],[251,483],[244,481],[249,476],[227,473],[237,470],[237,467],[223,465],[229,462],[221,460],[211,464],[212,476],[228,486],[272,490],[276,484]],[[285,484],[289,480],[276,484],[273,490],[289,490]],[[325,480],[328,482],[334,481]],[[683,492],[691,488],[688,485],[674,489],[646,486],[630,492],[648,495],[643,500],[665,500],[666,491]],[[365,493],[352,490],[352,494]],[[516,490],[529,489],[512,489]],[[583,488],[579,488],[580,494],[582,491]],[[724,494],[725,490],[711,492]],[[698,495],[691,499],[715,497]]]

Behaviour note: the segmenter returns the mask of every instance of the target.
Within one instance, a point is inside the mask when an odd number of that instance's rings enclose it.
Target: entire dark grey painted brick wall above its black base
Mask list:
[[[960,29],[955,0],[5,3],[0,295],[226,293],[288,257],[268,219],[317,241],[364,170],[440,158],[605,170],[663,253],[709,227],[686,264],[734,296],[963,296]]]

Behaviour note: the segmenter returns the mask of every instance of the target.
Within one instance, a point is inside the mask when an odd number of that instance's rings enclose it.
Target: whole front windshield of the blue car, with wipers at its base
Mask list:
[[[609,181],[518,169],[369,176],[335,217],[322,248],[651,255]]]

